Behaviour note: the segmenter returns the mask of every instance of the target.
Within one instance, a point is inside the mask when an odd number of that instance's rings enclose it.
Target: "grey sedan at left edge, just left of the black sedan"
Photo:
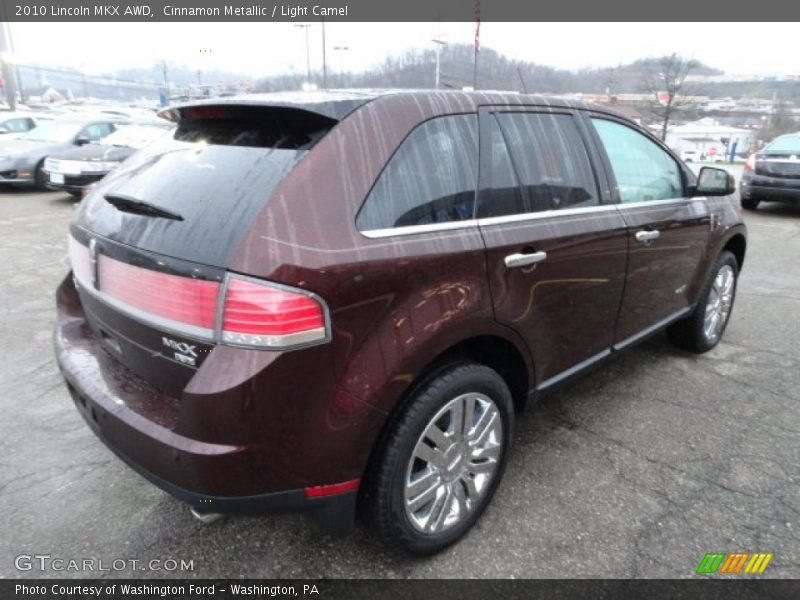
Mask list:
[[[16,139],[0,138],[0,183],[44,189],[44,161],[51,155],[97,141],[124,125],[108,115],[69,115],[44,121]]]

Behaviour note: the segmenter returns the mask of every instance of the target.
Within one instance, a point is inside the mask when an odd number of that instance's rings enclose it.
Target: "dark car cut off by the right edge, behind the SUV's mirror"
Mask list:
[[[800,133],[782,135],[751,154],[739,182],[743,208],[761,202],[800,203]]]

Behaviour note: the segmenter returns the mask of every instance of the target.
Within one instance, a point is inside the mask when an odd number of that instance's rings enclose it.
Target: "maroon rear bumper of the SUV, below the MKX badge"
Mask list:
[[[352,467],[331,469],[326,478],[292,485],[279,469],[267,470],[265,453],[274,456],[279,449],[181,435],[174,419],[159,408],[174,410],[168,405],[174,407],[176,399],[152,388],[102,348],[69,278],[57,300],[56,357],[75,406],[92,431],[136,472],[199,512],[303,512],[333,533],[352,528],[357,491],[307,497],[305,487],[354,479],[360,471],[353,477]],[[302,473],[302,466],[297,470]]]

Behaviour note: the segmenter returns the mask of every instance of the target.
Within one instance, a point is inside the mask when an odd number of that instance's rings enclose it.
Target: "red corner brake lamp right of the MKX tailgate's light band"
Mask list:
[[[222,341],[285,347],[327,337],[325,311],[308,292],[230,277],[222,317]]]

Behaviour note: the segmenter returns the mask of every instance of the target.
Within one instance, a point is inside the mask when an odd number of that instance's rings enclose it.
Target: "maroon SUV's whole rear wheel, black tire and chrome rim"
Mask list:
[[[513,421],[511,392],[485,365],[458,362],[425,380],[368,475],[366,509],[378,536],[416,555],[461,538],[497,489]]]

